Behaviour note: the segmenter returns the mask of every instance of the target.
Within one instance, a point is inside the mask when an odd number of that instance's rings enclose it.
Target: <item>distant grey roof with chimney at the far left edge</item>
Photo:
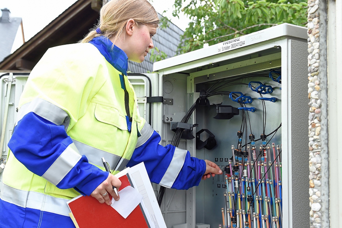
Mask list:
[[[11,17],[9,9],[1,9],[0,18],[0,62],[9,54],[13,46],[14,38],[17,34],[19,25],[22,22],[21,17]]]

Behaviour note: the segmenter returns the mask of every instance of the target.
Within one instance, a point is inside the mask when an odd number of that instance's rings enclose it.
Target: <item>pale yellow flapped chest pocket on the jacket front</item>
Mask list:
[[[116,126],[120,130],[127,131],[126,117],[121,115],[119,110],[114,107],[96,104],[94,115],[96,120],[102,123],[107,123]]]

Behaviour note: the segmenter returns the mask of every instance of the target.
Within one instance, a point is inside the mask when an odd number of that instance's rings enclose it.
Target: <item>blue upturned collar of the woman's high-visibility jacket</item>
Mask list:
[[[127,75],[128,57],[124,51],[104,36],[95,37],[89,43],[93,44],[105,59],[123,75]],[[113,46],[113,48],[112,48]]]

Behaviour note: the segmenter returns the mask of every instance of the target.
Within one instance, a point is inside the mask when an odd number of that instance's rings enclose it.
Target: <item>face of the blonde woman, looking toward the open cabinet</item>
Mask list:
[[[137,63],[144,61],[149,50],[154,48],[152,37],[156,34],[156,30],[157,28],[147,25],[135,26],[126,52],[129,60]]]

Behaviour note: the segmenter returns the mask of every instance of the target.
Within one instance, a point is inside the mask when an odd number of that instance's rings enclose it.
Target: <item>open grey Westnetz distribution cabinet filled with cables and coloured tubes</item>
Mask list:
[[[224,172],[163,197],[154,185],[167,227],[307,227],[307,29],[281,24],[156,62],[154,71],[129,80],[160,144]],[[1,75],[4,161],[28,77]]]

